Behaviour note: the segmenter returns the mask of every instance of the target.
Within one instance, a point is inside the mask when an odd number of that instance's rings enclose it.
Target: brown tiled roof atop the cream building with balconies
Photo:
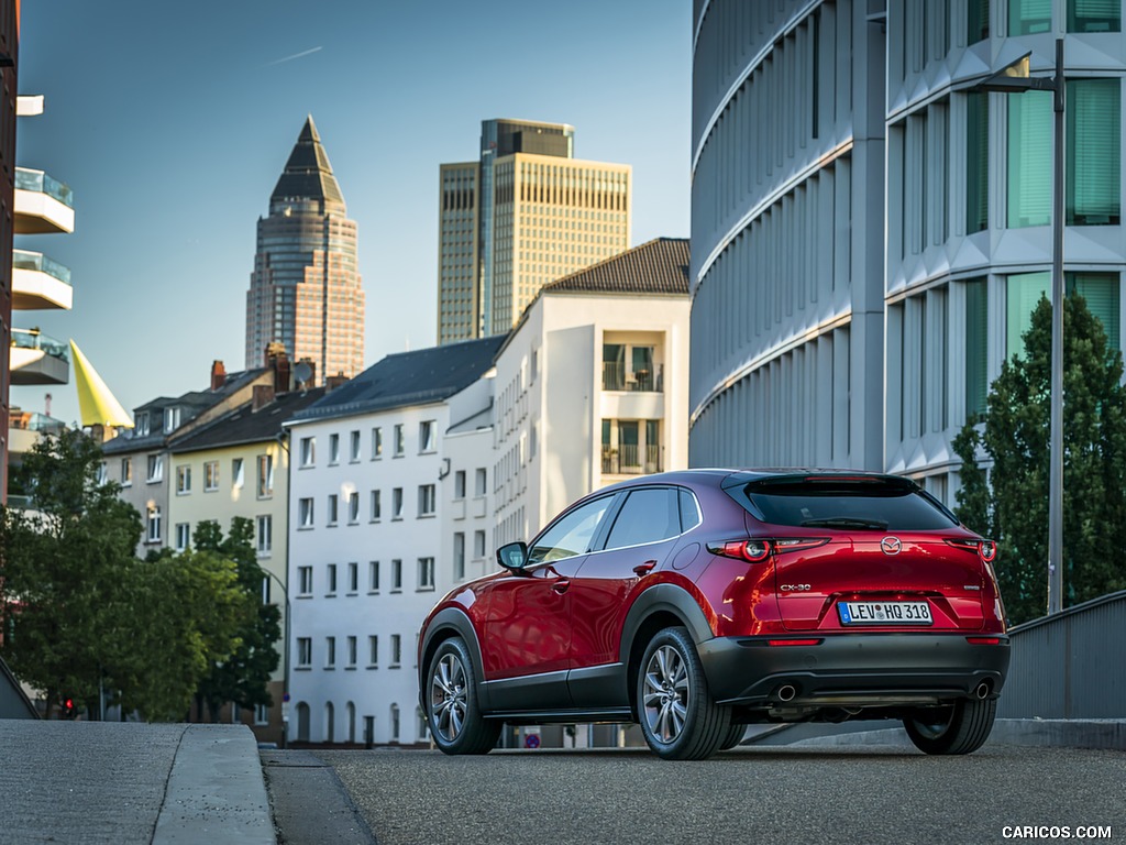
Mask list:
[[[688,239],[654,238],[546,284],[542,293],[688,295]]]

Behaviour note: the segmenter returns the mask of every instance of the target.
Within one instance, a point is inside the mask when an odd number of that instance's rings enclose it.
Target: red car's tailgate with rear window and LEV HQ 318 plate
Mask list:
[[[805,478],[749,491],[778,539],[775,589],[790,631],[976,631],[984,623],[969,535],[906,479]],[[813,539],[824,542],[814,544]]]

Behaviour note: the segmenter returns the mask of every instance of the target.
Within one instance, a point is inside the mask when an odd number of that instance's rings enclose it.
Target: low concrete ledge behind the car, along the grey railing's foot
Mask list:
[[[776,739],[781,738],[778,733],[774,736]],[[801,738],[788,745],[794,747],[884,745],[914,748],[903,728],[859,731],[854,729],[850,732],[826,730],[823,736]],[[985,747],[991,745],[1126,750],[1126,719],[998,719]]]

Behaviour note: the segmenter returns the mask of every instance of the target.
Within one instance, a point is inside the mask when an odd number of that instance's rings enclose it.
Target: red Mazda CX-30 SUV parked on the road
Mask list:
[[[438,747],[510,724],[638,722],[668,759],[760,722],[902,720],[927,754],[993,727],[1009,666],[992,541],[910,479],[688,470],[587,496],[419,637]]]

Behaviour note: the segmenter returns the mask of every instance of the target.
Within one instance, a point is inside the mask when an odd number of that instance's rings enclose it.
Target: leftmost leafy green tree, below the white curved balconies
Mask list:
[[[97,702],[120,585],[141,518],[98,482],[101,447],[81,432],[45,436],[24,459],[35,510],[0,513],[0,631],[12,671],[65,699]]]

